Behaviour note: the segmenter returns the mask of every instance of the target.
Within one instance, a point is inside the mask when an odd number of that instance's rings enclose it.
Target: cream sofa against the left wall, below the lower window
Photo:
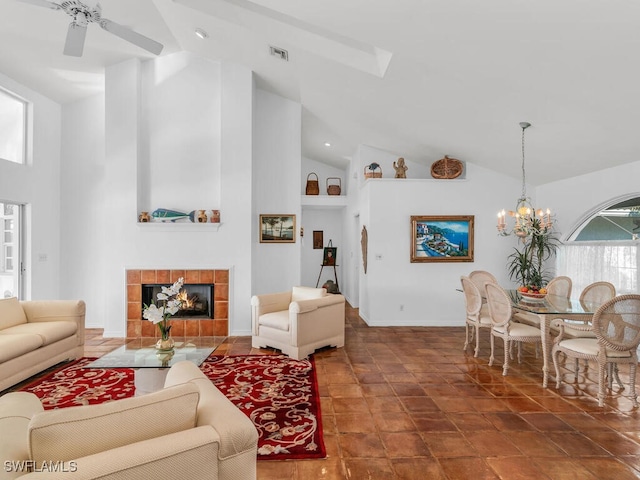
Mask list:
[[[82,300],[0,300],[0,391],[84,353]]]

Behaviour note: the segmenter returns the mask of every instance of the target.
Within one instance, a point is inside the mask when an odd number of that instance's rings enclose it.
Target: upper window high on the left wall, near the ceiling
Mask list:
[[[0,89],[0,158],[25,163],[27,104]]]

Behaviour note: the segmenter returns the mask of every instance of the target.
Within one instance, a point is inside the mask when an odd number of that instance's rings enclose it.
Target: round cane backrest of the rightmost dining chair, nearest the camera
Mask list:
[[[633,351],[640,345],[640,295],[619,295],[593,315],[598,343],[608,349]]]

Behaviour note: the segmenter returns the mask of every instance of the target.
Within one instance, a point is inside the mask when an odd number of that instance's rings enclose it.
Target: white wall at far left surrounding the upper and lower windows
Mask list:
[[[0,201],[27,207],[23,297],[60,298],[60,105],[1,74],[0,87],[29,102],[31,117],[27,165],[0,160]]]

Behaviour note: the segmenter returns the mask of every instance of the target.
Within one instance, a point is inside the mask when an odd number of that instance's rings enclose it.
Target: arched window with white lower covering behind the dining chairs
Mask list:
[[[560,246],[556,272],[573,280],[576,293],[608,281],[618,294],[638,293],[640,195],[603,204],[583,217]]]

